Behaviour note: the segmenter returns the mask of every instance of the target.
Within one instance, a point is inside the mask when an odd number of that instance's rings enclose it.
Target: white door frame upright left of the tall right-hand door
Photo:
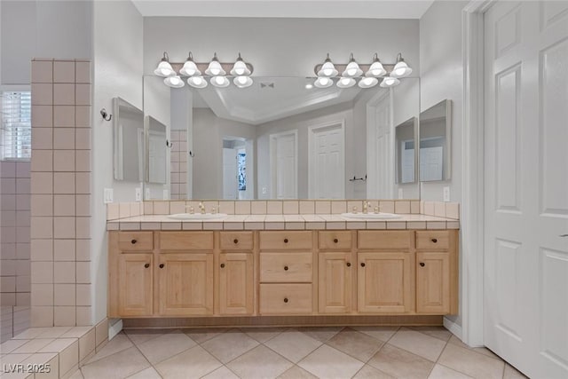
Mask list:
[[[444,326],[470,346],[484,345],[484,17],[494,0],[471,0],[461,12],[461,326]]]

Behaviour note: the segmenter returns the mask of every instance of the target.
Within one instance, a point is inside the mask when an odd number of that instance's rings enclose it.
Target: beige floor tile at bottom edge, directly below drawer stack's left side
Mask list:
[[[292,366],[292,362],[264,345],[256,346],[227,364],[236,375],[251,379],[275,378]]]

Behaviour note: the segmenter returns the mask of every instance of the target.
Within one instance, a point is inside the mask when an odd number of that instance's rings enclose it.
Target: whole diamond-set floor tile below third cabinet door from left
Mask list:
[[[205,343],[201,343],[203,348],[223,363],[230,362],[257,345],[258,342],[256,340],[238,329],[229,330]]]

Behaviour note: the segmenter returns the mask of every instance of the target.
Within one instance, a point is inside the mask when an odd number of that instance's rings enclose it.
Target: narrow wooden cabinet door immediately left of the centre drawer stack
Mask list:
[[[252,253],[226,253],[219,257],[219,312],[254,312],[254,266]]]

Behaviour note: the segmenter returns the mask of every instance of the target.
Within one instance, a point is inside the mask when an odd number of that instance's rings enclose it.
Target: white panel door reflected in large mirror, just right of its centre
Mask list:
[[[343,122],[312,128],[309,183],[311,199],[345,198]]]

